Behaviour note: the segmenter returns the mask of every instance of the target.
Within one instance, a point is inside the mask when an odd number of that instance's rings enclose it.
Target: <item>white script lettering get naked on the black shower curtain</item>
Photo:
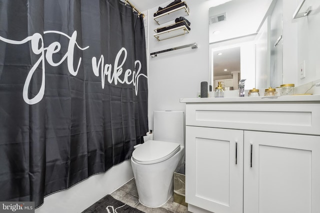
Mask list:
[[[10,40],[10,39],[3,38],[0,36],[1,41],[4,41],[9,44],[23,44],[28,41],[31,41],[32,52],[36,55],[40,55],[38,60],[34,63],[34,65],[29,70],[29,72],[26,76],[24,85],[23,85],[22,97],[23,97],[24,102],[29,105],[38,103],[39,101],[42,100],[42,98],[44,96],[44,88],[45,88],[45,65],[44,65],[45,61],[44,61],[44,59],[51,66],[59,66],[63,61],[65,61],[65,59],[67,59],[67,67],[68,67],[69,73],[73,76],[76,76],[78,73],[80,64],[81,64],[81,57],[78,60],[78,64],[77,64],[76,69],[74,70],[74,67],[73,67],[74,47],[76,45],[77,48],[80,50],[85,50],[85,49],[89,48],[89,46],[82,48],[77,44],[77,42],[76,42],[77,32],[76,31],[74,31],[71,36],[68,36],[67,34],[65,34],[63,32],[54,31],[54,30],[48,30],[48,31],[43,32],[43,34],[47,34],[47,33],[60,34],[60,35],[63,35],[69,39],[67,52],[63,55],[61,60],[58,62],[53,61],[53,54],[58,53],[60,51],[61,44],[57,41],[54,41],[51,44],[49,44],[47,47],[44,47],[43,37],[40,33],[34,33],[33,35],[28,36],[20,41]],[[122,61],[120,61],[120,57],[122,56],[122,54],[123,54],[123,59],[122,59]],[[117,85],[118,82],[121,84],[128,84],[128,85],[132,84],[135,88],[135,95],[137,95],[139,77],[143,76],[143,77],[147,78],[147,76],[145,74],[140,73],[141,62],[139,60],[136,60],[134,62],[134,70],[133,71],[131,71],[130,69],[125,70],[124,77],[123,77],[123,79],[121,79],[120,76],[123,72],[122,66],[126,60],[126,57],[127,57],[127,51],[124,47],[122,47],[118,51],[118,53],[115,57],[113,71],[112,71],[111,64],[104,64],[103,55],[101,55],[101,57],[98,61],[97,61],[96,57],[92,57],[93,74],[98,77],[99,76],[99,68],[101,69],[100,77],[101,77],[102,89],[104,88],[105,76],[107,76],[107,81],[109,83],[113,82],[115,85]],[[33,73],[35,72],[36,68],[39,67],[39,65],[41,66],[40,68],[42,70],[41,86],[40,86],[38,93],[33,98],[29,99],[29,97],[28,97],[29,85],[30,85]],[[131,77],[131,79],[129,79],[130,77]]]

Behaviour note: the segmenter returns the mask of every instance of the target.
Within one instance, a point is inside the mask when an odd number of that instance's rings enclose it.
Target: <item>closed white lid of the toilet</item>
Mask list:
[[[139,164],[155,164],[164,161],[180,150],[180,144],[149,140],[138,146],[132,158]]]

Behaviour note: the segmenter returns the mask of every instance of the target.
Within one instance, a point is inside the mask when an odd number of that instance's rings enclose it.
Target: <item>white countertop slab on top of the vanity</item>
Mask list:
[[[223,98],[180,98],[180,103],[224,103],[224,102],[292,102],[320,101],[320,95],[286,95],[259,97],[223,97]]]

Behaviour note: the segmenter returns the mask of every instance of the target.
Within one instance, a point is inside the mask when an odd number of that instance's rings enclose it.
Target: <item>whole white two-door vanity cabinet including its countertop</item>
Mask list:
[[[189,211],[320,212],[320,96],[180,102]]]

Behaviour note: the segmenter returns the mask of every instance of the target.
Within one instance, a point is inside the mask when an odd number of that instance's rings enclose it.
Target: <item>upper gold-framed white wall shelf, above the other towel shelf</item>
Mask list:
[[[186,15],[189,15],[189,7],[186,4],[184,4],[183,6],[174,8],[170,11],[154,16],[153,19],[155,20],[155,22],[157,22],[157,24],[160,25],[170,20],[174,20],[177,17],[186,16]]]

